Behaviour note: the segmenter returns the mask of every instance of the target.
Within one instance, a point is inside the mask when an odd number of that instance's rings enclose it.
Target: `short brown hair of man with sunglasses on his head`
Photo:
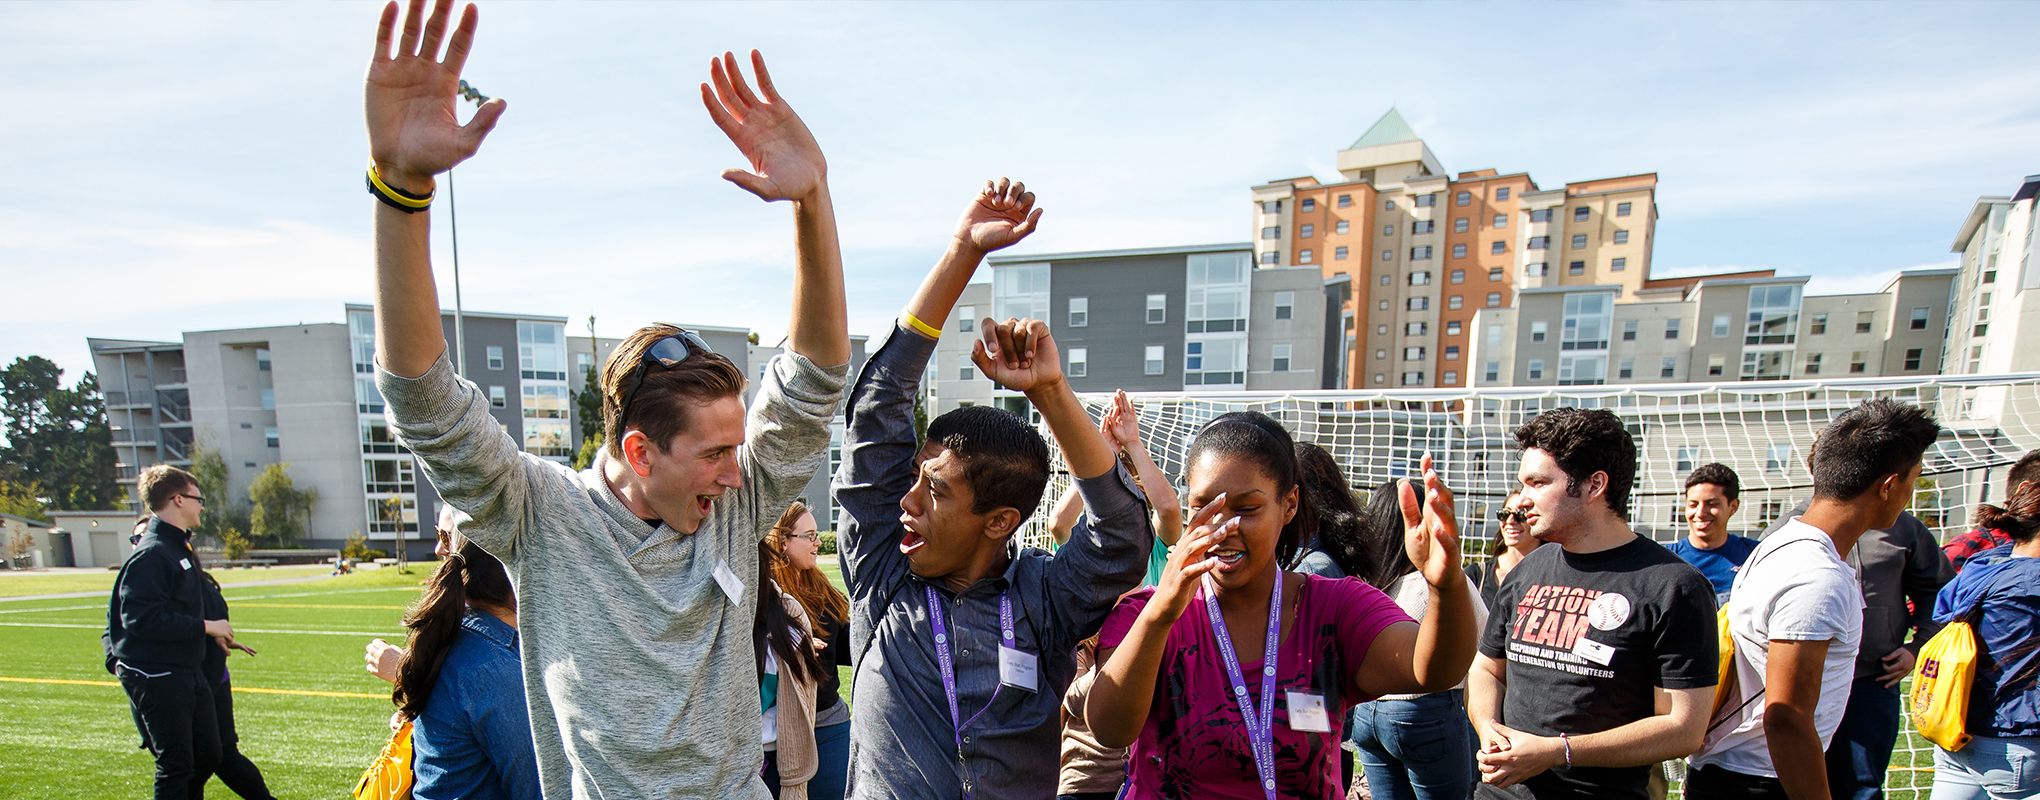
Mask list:
[[[630,369],[659,339],[681,333],[679,327],[657,322],[636,329],[616,345],[610,359],[602,363],[602,435],[608,439],[610,457],[624,457],[624,431],[639,429],[651,445],[665,453],[687,429],[690,406],[700,406],[720,398],[745,394],[745,371],[736,369],[722,353],[690,353],[673,369],[645,369],[645,382],[630,402],[630,418],[624,418],[624,382]]]

